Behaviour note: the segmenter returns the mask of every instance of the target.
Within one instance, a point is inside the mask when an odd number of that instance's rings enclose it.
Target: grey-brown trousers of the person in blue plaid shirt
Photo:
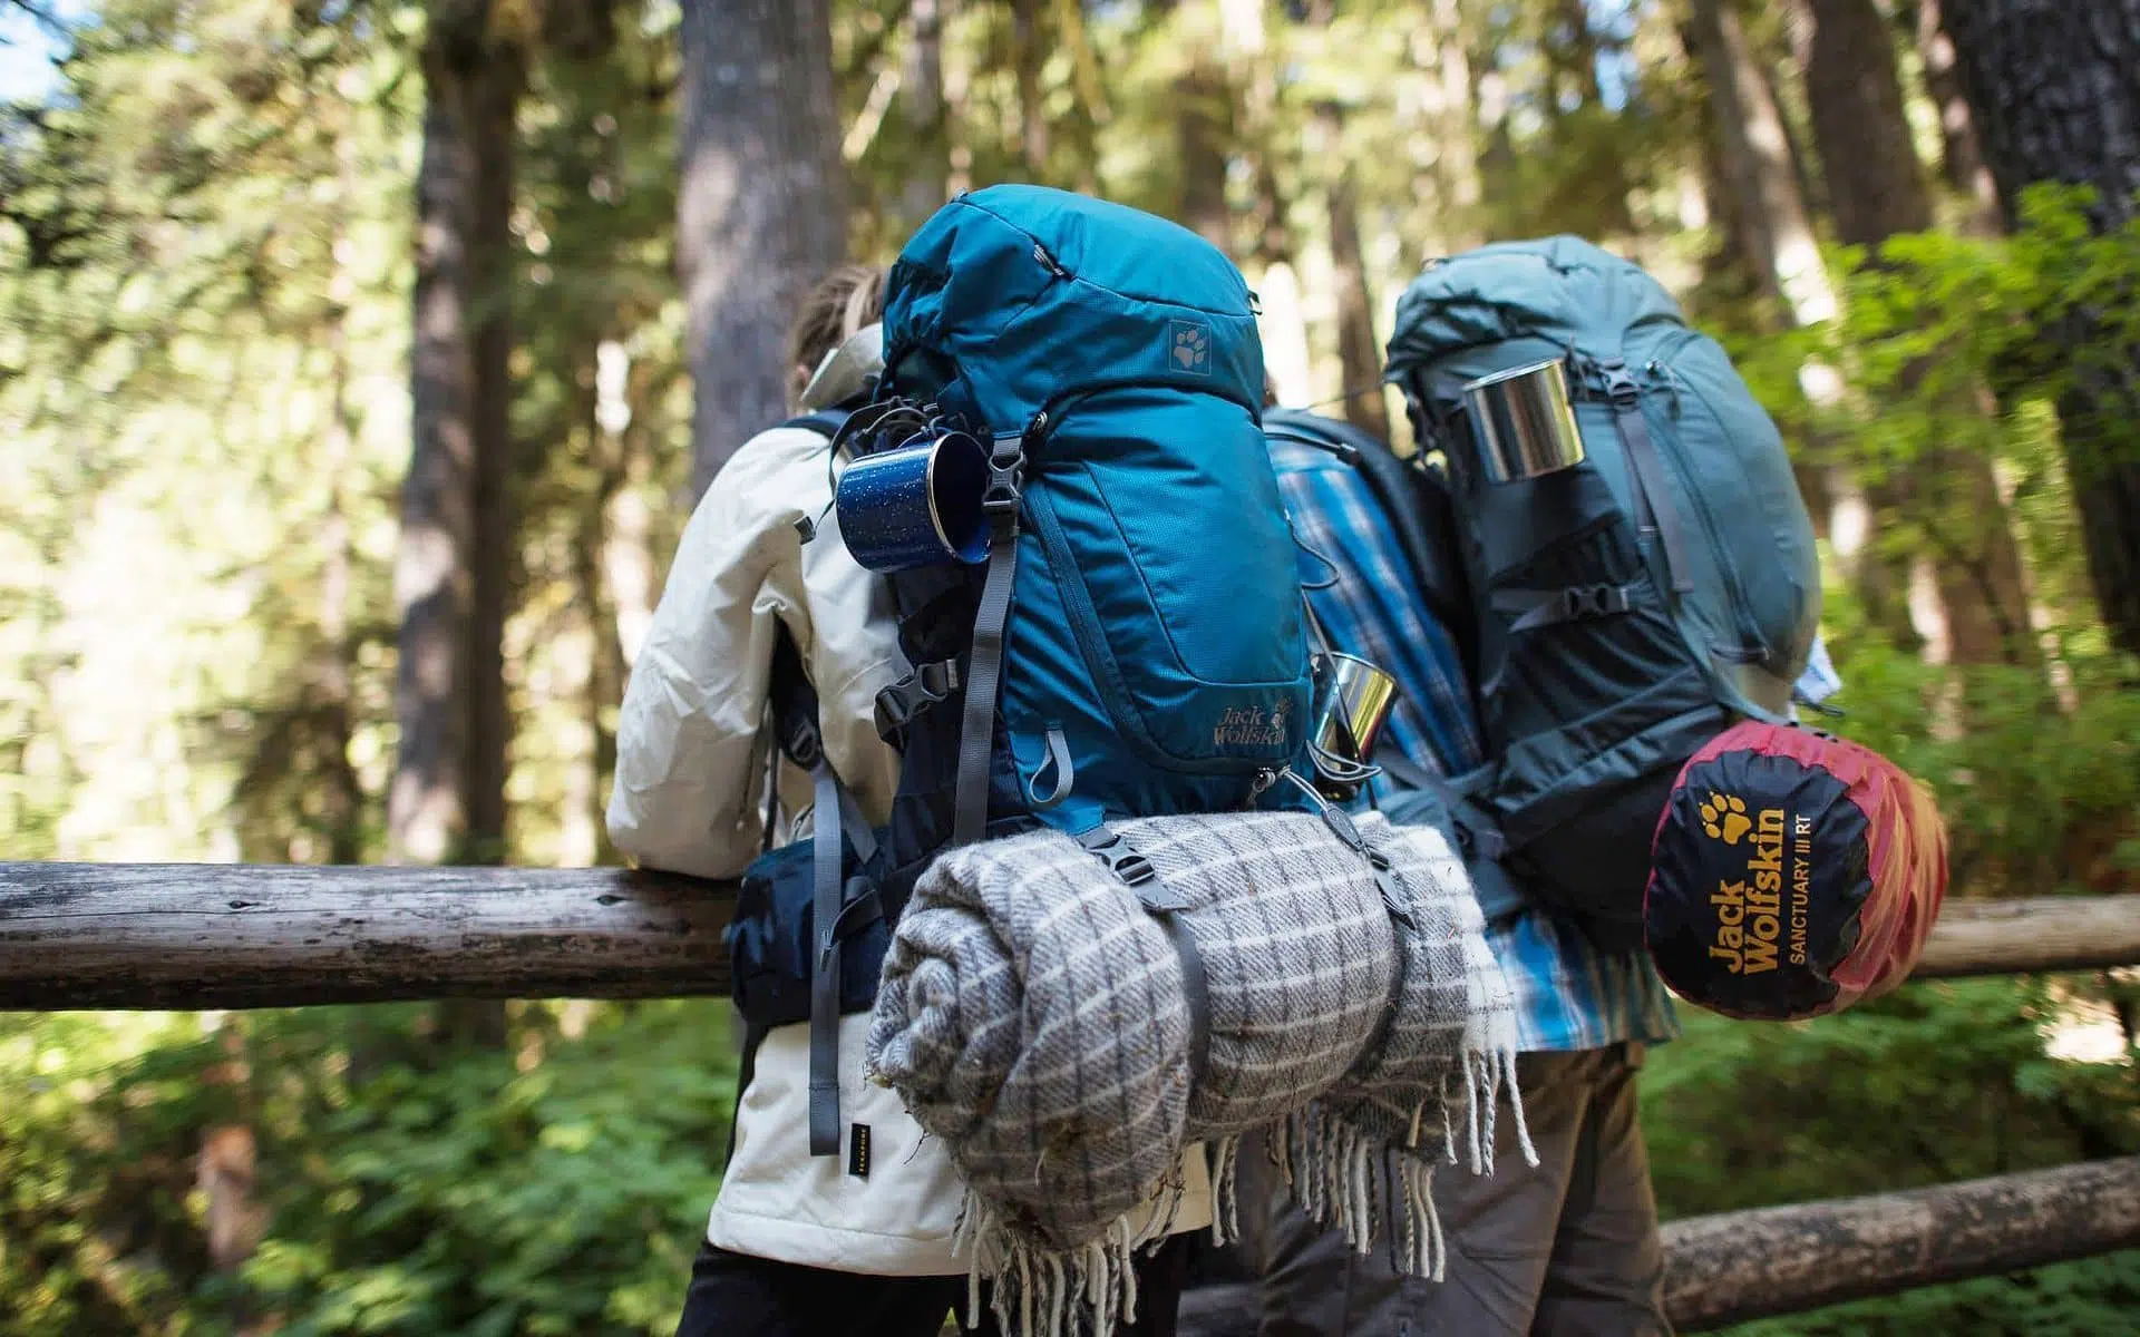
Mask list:
[[[1361,1256],[1316,1228],[1263,1149],[1243,1147],[1241,1254],[1258,1277],[1258,1337],[1669,1337],[1639,1067],[1639,1044],[1517,1059],[1539,1166],[1524,1164],[1502,1112],[1494,1174],[1436,1170],[1440,1284],[1400,1277],[1389,1249]]]

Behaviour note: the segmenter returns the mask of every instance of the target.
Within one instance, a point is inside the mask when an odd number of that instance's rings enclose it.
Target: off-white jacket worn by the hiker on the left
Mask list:
[[[633,862],[736,877],[758,856],[775,618],[817,687],[826,757],[871,821],[890,813],[899,755],[877,738],[875,700],[905,659],[884,580],[847,554],[830,501],[824,436],[775,428],[736,451],[685,526],[616,725],[610,839]],[[781,770],[785,811],[807,806],[807,777]],[[899,1097],[862,1080],[867,1031],[867,1014],[841,1020],[839,1117],[869,1125],[869,1174],[847,1174],[845,1142],[809,1155],[809,1025],[779,1027],[736,1108],[710,1243],[843,1273],[965,1271],[950,1247],[965,1189]],[[1198,1230],[1211,1221],[1201,1149],[1183,1172],[1175,1228]]]

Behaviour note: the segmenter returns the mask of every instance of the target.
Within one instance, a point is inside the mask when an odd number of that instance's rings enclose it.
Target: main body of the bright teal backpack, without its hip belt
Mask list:
[[[1301,753],[1263,344],[1218,248],[1061,190],[963,195],[892,265],[877,400],[993,443],[984,575],[892,578],[918,676],[961,685],[880,712],[920,845],[1040,821],[1119,849],[1109,819],[1248,806]]]

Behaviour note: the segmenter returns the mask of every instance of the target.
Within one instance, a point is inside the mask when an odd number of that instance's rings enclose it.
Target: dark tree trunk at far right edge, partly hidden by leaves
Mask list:
[[[2097,190],[2095,231],[2131,222],[2140,0],[1945,0],[1943,17],[2005,220],[2024,186],[2067,182]],[[2072,362],[2059,426],[2089,578],[2112,637],[2140,655],[2140,349],[2099,308],[2076,306],[2044,334]]]

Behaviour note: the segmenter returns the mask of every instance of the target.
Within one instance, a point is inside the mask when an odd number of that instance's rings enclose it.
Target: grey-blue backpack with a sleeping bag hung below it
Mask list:
[[[1586,458],[1494,483],[1462,387],[1554,357]],[[1494,762],[1455,783],[1459,815],[1534,894],[1637,946],[1673,777],[1733,719],[1787,717],[1819,625],[1776,426],[1654,278],[1577,237],[1430,263],[1387,379],[1447,456],[1477,618]]]

